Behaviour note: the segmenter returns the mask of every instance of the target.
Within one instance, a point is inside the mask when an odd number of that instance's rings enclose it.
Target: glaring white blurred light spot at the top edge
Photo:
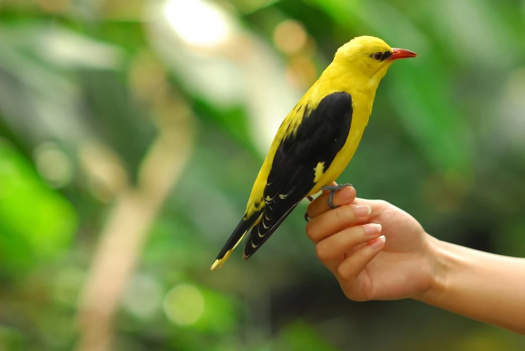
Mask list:
[[[188,44],[214,46],[228,37],[226,16],[219,7],[207,1],[169,0],[164,15]]]

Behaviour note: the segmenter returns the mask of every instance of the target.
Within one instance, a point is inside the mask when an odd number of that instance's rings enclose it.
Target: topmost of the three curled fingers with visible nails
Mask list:
[[[372,208],[368,205],[344,205],[324,212],[306,224],[306,233],[314,243],[354,226],[369,218]]]

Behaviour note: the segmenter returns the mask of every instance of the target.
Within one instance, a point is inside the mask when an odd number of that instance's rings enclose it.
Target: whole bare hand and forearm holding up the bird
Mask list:
[[[440,241],[405,211],[345,187],[308,206],[306,232],[354,301],[411,298],[525,335],[525,259]],[[379,225],[379,226],[378,226]]]

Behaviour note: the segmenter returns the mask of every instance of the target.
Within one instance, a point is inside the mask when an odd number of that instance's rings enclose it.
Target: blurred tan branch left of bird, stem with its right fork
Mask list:
[[[140,257],[152,221],[177,183],[194,144],[193,115],[169,91],[156,99],[160,135],[144,158],[136,188],[124,187],[110,212],[80,295],[79,351],[110,349],[112,316]]]

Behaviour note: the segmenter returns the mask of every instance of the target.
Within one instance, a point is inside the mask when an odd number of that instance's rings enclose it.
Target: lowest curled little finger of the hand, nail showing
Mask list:
[[[359,273],[374,259],[385,245],[385,237],[382,235],[377,239],[370,241],[360,250],[355,251],[350,257],[346,258],[339,267],[337,272],[339,276],[347,281],[353,281]]]

